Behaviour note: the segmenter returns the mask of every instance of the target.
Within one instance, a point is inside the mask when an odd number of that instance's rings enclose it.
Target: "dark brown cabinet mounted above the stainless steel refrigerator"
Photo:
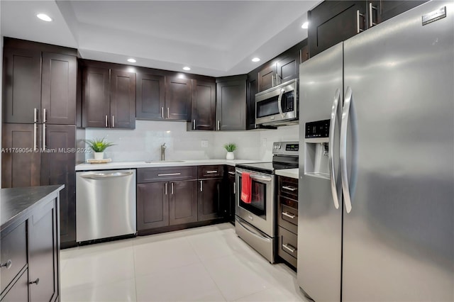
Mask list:
[[[426,1],[323,1],[308,11],[309,54],[314,57],[323,50],[424,2]]]

